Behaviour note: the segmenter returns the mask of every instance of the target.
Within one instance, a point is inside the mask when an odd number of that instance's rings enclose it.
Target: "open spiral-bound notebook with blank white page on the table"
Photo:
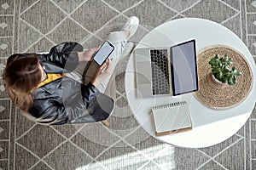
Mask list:
[[[192,129],[189,105],[186,101],[152,108],[156,135],[178,133]]]

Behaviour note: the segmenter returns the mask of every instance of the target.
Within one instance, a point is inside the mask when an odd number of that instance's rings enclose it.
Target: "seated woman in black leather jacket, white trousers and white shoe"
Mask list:
[[[112,68],[138,24],[139,20],[133,16],[122,31],[111,32],[106,37],[114,51],[102,66],[92,61],[98,48],[84,51],[78,42],[58,44],[49,54],[11,55],[3,72],[10,99],[33,121],[45,125],[107,119],[114,104],[104,91]]]

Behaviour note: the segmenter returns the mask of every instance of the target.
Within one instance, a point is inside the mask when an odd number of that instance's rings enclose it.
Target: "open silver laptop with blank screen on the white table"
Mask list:
[[[138,97],[180,95],[198,87],[195,39],[168,48],[134,51]]]

